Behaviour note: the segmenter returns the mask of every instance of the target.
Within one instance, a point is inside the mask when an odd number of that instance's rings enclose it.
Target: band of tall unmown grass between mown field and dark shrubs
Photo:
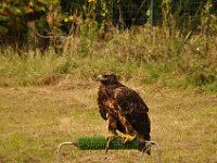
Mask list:
[[[0,85],[38,85],[47,83],[44,78],[64,79],[67,74],[87,79],[111,70],[141,84],[217,92],[216,35],[183,35],[149,25],[89,35],[63,38],[60,54],[49,49],[43,55],[20,58],[12,50],[2,50]]]

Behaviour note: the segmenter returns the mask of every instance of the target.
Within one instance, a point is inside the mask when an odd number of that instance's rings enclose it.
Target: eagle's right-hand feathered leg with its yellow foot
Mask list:
[[[124,143],[132,141],[137,137],[137,131],[132,128],[132,125],[122,111],[118,112],[118,118],[126,130],[126,134],[118,133],[118,136],[122,137]]]

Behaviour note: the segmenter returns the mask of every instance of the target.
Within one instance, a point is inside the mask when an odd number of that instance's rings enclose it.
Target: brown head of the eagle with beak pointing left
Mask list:
[[[117,76],[112,72],[103,72],[97,77],[97,80],[104,85],[113,85],[118,82]]]

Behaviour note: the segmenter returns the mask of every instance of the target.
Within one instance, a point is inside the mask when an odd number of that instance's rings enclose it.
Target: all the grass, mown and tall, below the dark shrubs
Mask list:
[[[62,53],[0,52],[0,162],[55,162],[58,145],[105,136],[97,105],[104,70],[122,76],[150,106],[152,139],[165,163],[217,163],[216,36],[143,26],[68,37]],[[101,162],[104,151],[64,148],[64,162]],[[136,162],[135,150],[110,151],[107,162]],[[156,149],[149,163],[157,162]]]

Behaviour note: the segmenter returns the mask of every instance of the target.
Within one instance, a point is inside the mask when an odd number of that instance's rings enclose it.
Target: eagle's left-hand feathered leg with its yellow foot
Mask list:
[[[107,126],[108,126],[108,134],[106,136],[107,141],[112,141],[114,138],[117,137],[116,128],[117,128],[117,121],[113,116],[107,116]]]

